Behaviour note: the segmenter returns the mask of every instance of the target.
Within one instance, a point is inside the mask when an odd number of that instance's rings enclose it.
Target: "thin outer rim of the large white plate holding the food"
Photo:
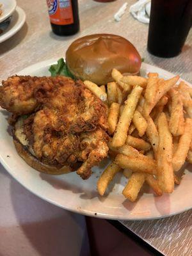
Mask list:
[[[54,63],[56,63],[58,59],[56,58],[52,58],[52,59],[49,59],[49,60],[44,60],[44,61],[40,61],[38,63],[35,63],[33,65],[29,65],[28,67],[26,68],[23,68],[22,70],[20,70],[20,72],[16,72],[16,74],[18,75],[23,75],[25,72],[27,72],[28,69],[30,69],[30,72],[34,72],[36,70],[36,68],[43,68],[47,65],[52,65]],[[142,66],[141,69],[147,69],[148,68],[157,68],[163,72],[165,72],[166,74],[168,74],[168,76],[174,76],[174,74],[172,72],[168,72],[166,70],[164,70],[163,68],[159,68],[159,67],[156,67],[154,65],[150,65],[148,63],[142,63]],[[183,81],[185,81],[184,79],[182,79]],[[187,82],[188,83],[188,82]],[[190,84],[190,83],[189,83]],[[191,84],[192,86],[192,84]],[[29,188],[28,186],[26,186],[24,184],[24,181],[22,181],[22,179],[18,179],[18,177],[16,177],[15,173],[12,172],[12,170],[10,170],[11,168],[9,167],[8,163],[6,163],[6,161],[4,161],[3,157],[1,156],[0,154],[0,160],[1,160],[1,164],[4,166],[5,170],[10,173],[10,175],[15,179],[17,180],[17,182],[19,182],[22,186],[24,186],[24,188],[28,189],[28,191],[30,191],[31,193],[33,193],[34,195],[38,196],[39,198],[42,198],[42,200],[45,200],[46,202],[49,202],[50,204],[53,204],[53,205],[56,205],[62,209],[65,209],[65,210],[68,210],[68,211],[72,211],[72,212],[76,212],[77,214],[83,214],[83,215],[86,215],[86,216],[92,216],[92,217],[97,217],[97,218],[104,218],[104,219],[109,219],[109,220],[129,220],[129,221],[133,221],[133,220],[157,220],[157,219],[161,219],[161,218],[168,218],[170,216],[173,216],[175,214],[180,214],[182,212],[185,212],[185,211],[189,211],[190,209],[192,209],[192,205],[186,209],[182,209],[180,211],[177,211],[177,212],[172,212],[170,214],[165,214],[165,215],[159,215],[159,216],[141,216],[141,215],[134,215],[134,216],[131,216],[130,214],[127,216],[128,218],[126,218],[126,216],[116,216],[116,215],[113,215],[113,214],[108,214],[108,213],[99,213],[96,211],[90,211],[90,210],[87,210],[87,209],[77,209],[77,207],[73,207],[73,208],[70,208],[70,207],[67,207],[65,205],[61,205],[60,203],[52,200],[51,198],[47,198],[45,195],[41,195],[40,193],[36,192],[35,189],[33,188]],[[95,212],[97,212],[97,215],[95,215]],[[132,217],[132,218],[130,218]]]

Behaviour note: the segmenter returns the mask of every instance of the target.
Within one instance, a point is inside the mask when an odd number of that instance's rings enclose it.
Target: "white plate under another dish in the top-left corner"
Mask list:
[[[13,12],[10,25],[0,35],[0,44],[5,40],[7,40],[8,38],[15,35],[22,28],[25,21],[26,21],[26,13],[24,12],[24,10],[22,10],[22,8],[17,6],[15,12]]]

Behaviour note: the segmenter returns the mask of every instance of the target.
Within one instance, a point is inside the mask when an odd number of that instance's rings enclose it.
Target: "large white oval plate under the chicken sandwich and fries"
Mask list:
[[[43,61],[24,68],[18,75],[50,76],[49,67],[55,60]],[[141,75],[158,72],[166,79],[173,76],[161,68],[142,63]],[[115,220],[148,220],[177,214],[192,207],[192,168],[186,165],[182,182],[171,195],[155,196],[144,188],[137,202],[131,203],[122,195],[127,180],[121,173],[109,186],[108,195],[99,196],[97,179],[107,163],[93,168],[93,175],[82,180],[76,173],[46,175],[37,172],[17,154],[9,134],[7,112],[0,109],[0,159],[4,168],[25,188],[40,198],[69,211],[88,216]]]

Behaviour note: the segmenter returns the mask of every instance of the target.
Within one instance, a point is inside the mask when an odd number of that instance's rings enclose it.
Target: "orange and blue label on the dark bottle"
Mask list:
[[[51,23],[69,25],[74,23],[71,0],[47,0]]]

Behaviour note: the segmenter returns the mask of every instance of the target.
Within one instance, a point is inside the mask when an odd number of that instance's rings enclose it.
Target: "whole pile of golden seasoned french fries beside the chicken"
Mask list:
[[[104,195],[118,172],[129,179],[122,194],[131,202],[144,183],[158,196],[172,193],[181,182],[176,172],[185,161],[192,164],[192,88],[184,82],[178,86],[179,76],[123,76],[115,68],[111,76],[113,82],[92,88],[100,99],[108,98],[112,137],[108,147],[113,162],[97,182],[99,194]]]

